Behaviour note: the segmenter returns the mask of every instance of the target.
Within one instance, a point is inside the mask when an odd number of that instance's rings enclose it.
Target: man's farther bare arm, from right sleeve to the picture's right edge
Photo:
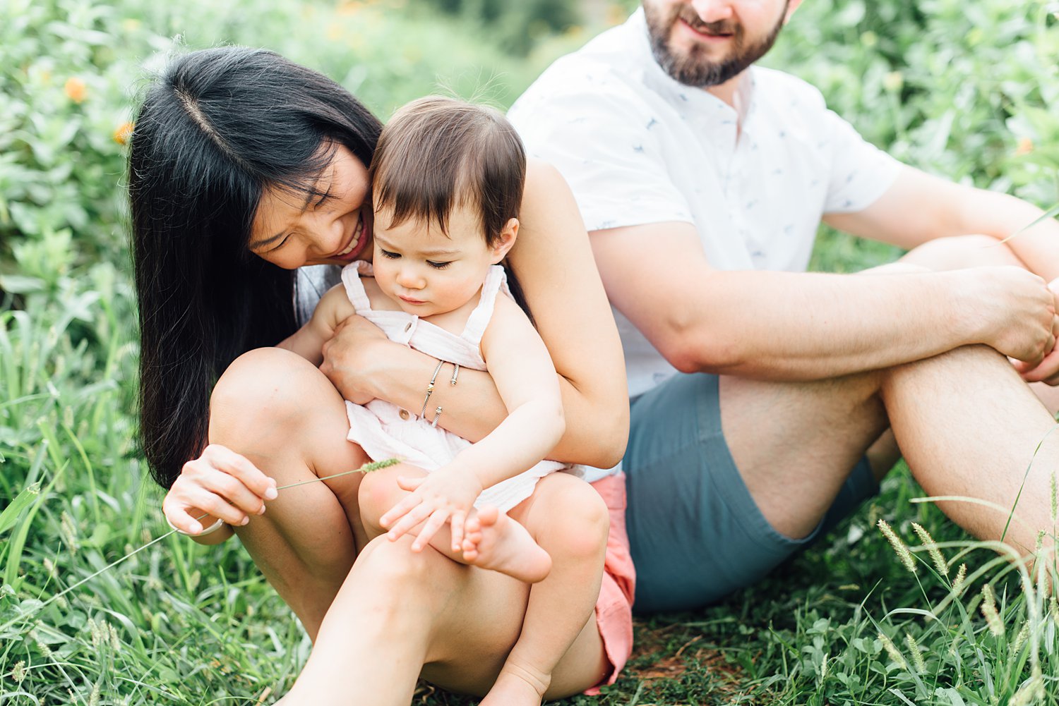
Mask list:
[[[1042,215],[1040,209],[1013,196],[954,184],[902,166],[894,184],[875,203],[856,213],[829,214],[824,220],[846,233],[905,250],[953,235],[1010,238],[1005,245],[1016,257],[1051,282],[1059,277],[1059,221],[1048,218],[1022,231]]]

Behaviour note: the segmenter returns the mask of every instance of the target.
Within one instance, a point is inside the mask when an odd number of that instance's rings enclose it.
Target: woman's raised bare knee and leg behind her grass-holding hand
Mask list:
[[[236,451],[284,486],[358,468],[363,452],[345,439],[345,403],[320,370],[294,354],[262,348],[218,380],[210,440]],[[309,636],[366,543],[359,527],[359,474],[281,490],[236,532],[254,563]],[[356,528],[356,529],[354,529]]]

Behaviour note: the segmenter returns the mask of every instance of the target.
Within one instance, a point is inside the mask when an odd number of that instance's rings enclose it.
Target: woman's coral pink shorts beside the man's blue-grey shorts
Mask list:
[[[592,487],[610,509],[603,584],[596,600],[596,626],[610,662],[610,672],[603,682],[585,692],[590,696],[599,693],[600,686],[613,684],[632,654],[632,598],[636,586],[636,572],[632,567],[629,538],[625,532],[625,474],[608,475]]]

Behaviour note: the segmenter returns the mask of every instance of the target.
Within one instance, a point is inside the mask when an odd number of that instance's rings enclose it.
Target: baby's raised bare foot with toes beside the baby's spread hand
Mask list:
[[[552,558],[525,527],[486,505],[467,520],[464,561],[526,583],[541,581],[552,571]]]

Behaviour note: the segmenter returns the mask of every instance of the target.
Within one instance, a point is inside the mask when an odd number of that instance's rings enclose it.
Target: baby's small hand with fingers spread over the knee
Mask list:
[[[387,537],[391,541],[396,540],[426,520],[419,535],[412,542],[412,550],[420,551],[448,522],[452,535],[452,550],[460,551],[467,513],[482,494],[481,481],[467,471],[441,468],[418,478],[399,476],[397,485],[411,491],[411,494],[379,519],[383,527],[393,525]]]

